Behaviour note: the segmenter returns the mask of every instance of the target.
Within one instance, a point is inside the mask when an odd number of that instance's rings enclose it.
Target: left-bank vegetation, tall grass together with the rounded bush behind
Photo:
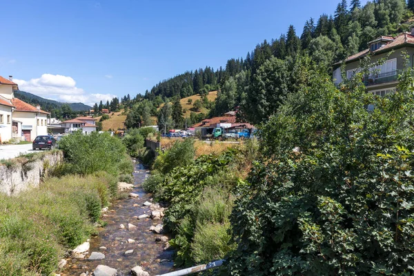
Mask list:
[[[59,260],[97,234],[101,208],[117,197],[132,162],[117,137],[93,132],[61,140],[64,160],[38,189],[0,195],[0,275],[50,275]],[[48,152],[19,157],[41,158]]]

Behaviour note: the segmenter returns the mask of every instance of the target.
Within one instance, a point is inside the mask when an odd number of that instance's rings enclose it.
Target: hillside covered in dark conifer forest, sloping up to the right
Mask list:
[[[157,111],[161,103],[218,90],[215,102],[206,102],[210,110],[206,117],[221,115],[239,106],[240,120],[259,124],[275,112],[288,93],[306,85],[304,75],[309,64],[315,63],[331,73],[333,63],[367,48],[367,43],[376,37],[411,30],[413,2],[376,0],[362,6],[359,0],[350,3],[342,0],[333,14],[309,18],[300,36],[299,30],[286,23],[286,34],[264,40],[244,58],[229,59],[225,68],[215,70],[207,66],[184,72],[159,82],[144,96],[137,95],[126,103],[132,108],[139,101],[147,100],[144,106],[148,108],[142,108],[142,104],[141,108],[135,108],[135,119],[142,123],[142,117],[148,117],[144,113],[161,117],[164,112],[164,121],[174,128],[181,127],[182,120],[172,118],[172,112]]]

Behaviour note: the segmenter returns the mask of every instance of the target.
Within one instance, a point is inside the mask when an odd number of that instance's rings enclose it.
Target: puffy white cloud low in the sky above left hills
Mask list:
[[[39,79],[13,79],[19,84],[19,89],[47,99],[55,99],[68,103],[81,102],[92,106],[99,101],[110,101],[112,94],[87,94],[82,88],[77,88],[76,81],[62,75],[43,74]]]

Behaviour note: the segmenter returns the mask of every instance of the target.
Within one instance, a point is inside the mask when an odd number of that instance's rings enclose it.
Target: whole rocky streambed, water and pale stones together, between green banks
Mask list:
[[[128,185],[120,185],[128,190],[129,197],[113,201],[107,210],[103,209],[102,220],[107,225],[99,228],[99,235],[91,237],[83,245],[80,250],[89,246],[85,252],[65,259],[62,276],[92,275],[94,270],[95,274],[113,275],[115,270],[106,266],[116,269],[117,275],[137,275],[136,272],[131,273],[132,268],[138,272],[142,269],[149,275],[159,275],[172,270],[173,251],[168,248],[168,236],[162,233],[161,217],[164,216],[164,209],[152,204],[151,195],[145,193],[141,187],[149,174],[137,161],[134,187],[128,189]]]

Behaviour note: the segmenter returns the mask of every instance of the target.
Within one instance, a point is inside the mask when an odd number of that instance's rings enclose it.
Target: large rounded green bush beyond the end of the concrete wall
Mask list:
[[[124,165],[127,158],[126,148],[119,138],[108,133],[83,135],[82,132],[74,132],[59,141],[59,148],[67,162],[61,168],[63,174],[88,175],[100,170],[113,175],[124,172],[119,165]]]

